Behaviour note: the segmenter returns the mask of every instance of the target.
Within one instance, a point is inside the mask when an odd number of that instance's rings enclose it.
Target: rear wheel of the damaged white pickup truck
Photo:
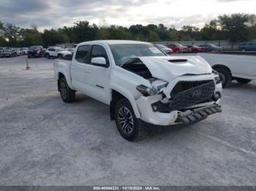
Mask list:
[[[71,103],[72,101],[75,101],[75,90],[72,90],[69,87],[67,80],[64,77],[59,79],[58,86],[62,101],[65,103]]]

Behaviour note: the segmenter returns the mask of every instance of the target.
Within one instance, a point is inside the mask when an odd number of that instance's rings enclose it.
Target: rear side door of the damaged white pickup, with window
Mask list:
[[[82,93],[86,93],[88,90],[86,88],[86,66],[90,63],[90,52],[90,45],[80,45],[71,63],[72,86]]]

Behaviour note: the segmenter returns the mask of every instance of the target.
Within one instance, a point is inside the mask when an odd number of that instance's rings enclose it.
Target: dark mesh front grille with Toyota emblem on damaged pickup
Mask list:
[[[200,104],[212,97],[214,94],[214,81],[206,82],[203,85],[189,88],[188,90],[176,93],[170,102],[169,108],[172,110],[185,109],[188,106]]]

